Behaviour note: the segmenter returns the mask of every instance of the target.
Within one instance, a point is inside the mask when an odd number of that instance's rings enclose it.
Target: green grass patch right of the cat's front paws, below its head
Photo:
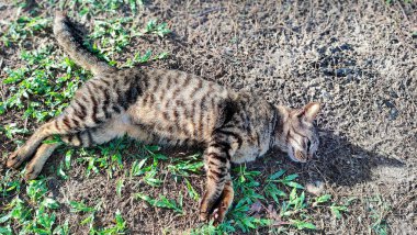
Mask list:
[[[281,169],[267,176],[261,184],[257,179],[266,177],[260,171],[248,170],[245,165],[234,169],[235,205],[226,221],[218,227],[203,225],[192,234],[250,233],[264,227],[269,233],[282,233],[290,228],[300,231],[319,230],[311,219],[312,213],[337,211],[340,219],[348,211],[348,204],[337,203],[330,194],[307,197],[304,187],[296,182],[297,175],[285,175]],[[263,175],[263,176],[262,176]]]

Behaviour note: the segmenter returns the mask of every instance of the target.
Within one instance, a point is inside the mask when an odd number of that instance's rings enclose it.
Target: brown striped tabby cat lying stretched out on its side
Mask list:
[[[63,12],[54,20],[58,44],[94,75],[76,92],[64,112],[37,128],[12,153],[9,168],[26,166],[35,179],[61,142],[93,146],[127,135],[144,143],[204,146],[206,189],[200,220],[221,223],[234,198],[232,163],[246,163],[278,147],[294,161],[306,163],[318,147],[314,120],[320,104],[303,109],[274,105],[178,70],[120,70],[94,57],[82,45],[74,23]]]

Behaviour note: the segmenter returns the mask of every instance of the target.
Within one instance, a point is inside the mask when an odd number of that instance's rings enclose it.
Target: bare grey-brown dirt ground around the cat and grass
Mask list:
[[[15,11],[0,5],[3,21],[11,21]],[[171,56],[148,66],[184,70],[290,107],[322,102],[317,121],[322,144],[314,163],[296,165],[272,153],[250,168],[270,174],[284,165],[290,172],[300,174],[304,183],[324,182],[336,198],[358,197],[341,220],[328,213],[312,215],[323,225],[323,233],[375,233],[376,213],[386,220],[392,234],[415,234],[416,11],[415,2],[403,1],[151,1],[135,21],[158,18],[168,22],[173,33],[168,40],[136,38],[117,59],[146,48],[162,48]],[[41,10],[43,14],[50,12],[53,9]],[[91,26],[89,21],[84,23]],[[0,49],[3,67],[19,65],[16,51]],[[1,77],[5,78],[3,72]],[[8,94],[7,87],[2,91]],[[0,115],[1,124],[21,122],[16,116],[19,113]],[[14,147],[3,136],[0,141],[3,155]],[[132,166],[128,160],[125,164],[126,168]],[[182,189],[173,181],[164,181],[157,191],[140,182],[126,184],[125,197],[115,198],[116,178],[98,175],[86,179],[80,174],[83,170],[77,166],[69,180],[49,181],[61,202],[101,201],[103,208],[97,217],[104,226],[112,223],[117,209],[128,215],[125,219],[132,234],[180,233],[199,224],[198,203],[188,195],[187,216],[178,216],[149,208],[129,193],[140,190],[155,197],[176,197]],[[5,170],[0,168],[0,172]],[[192,184],[200,186],[201,192],[203,177],[192,178]],[[68,211],[64,208],[57,213],[57,223],[80,221],[80,215]],[[86,232],[77,223],[70,228],[76,234]]]

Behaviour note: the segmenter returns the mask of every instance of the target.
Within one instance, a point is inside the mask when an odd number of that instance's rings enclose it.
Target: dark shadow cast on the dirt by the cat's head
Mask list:
[[[260,158],[250,168],[277,171],[280,168],[300,174],[300,180],[307,182],[322,181],[336,186],[352,187],[372,180],[373,168],[404,168],[406,164],[368,150],[329,131],[319,131],[320,146],[315,158],[307,164],[297,164],[285,154],[272,150]],[[279,160],[277,159],[279,158]]]

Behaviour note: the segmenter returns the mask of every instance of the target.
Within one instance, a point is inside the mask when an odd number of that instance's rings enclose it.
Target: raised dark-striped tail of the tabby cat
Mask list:
[[[115,70],[82,45],[81,36],[76,33],[74,24],[64,12],[55,12],[54,34],[58,44],[79,66],[91,70],[94,75]]]

